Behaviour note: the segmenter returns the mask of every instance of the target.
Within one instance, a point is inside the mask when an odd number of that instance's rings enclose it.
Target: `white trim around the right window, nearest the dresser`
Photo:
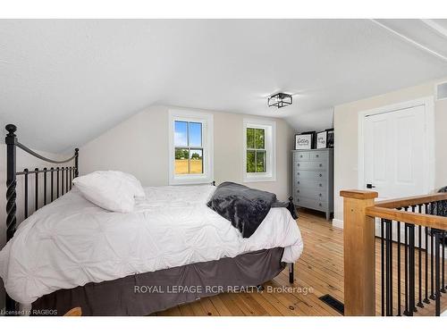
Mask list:
[[[266,173],[248,173],[247,172],[247,128],[263,128],[266,130]],[[242,125],[242,138],[243,138],[243,181],[244,182],[256,182],[256,181],[276,181],[276,122],[265,119],[246,119],[243,120]]]

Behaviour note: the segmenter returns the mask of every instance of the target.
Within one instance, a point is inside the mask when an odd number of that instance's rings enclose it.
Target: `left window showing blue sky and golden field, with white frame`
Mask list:
[[[170,110],[169,183],[211,182],[213,115]]]

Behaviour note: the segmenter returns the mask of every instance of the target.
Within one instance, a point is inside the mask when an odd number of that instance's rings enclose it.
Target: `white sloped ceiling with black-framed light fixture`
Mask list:
[[[400,34],[447,56],[442,29],[417,20],[1,20],[0,121],[53,152],[148,105],[324,129],[334,105],[447,75],[442,57]],[[266,107],[278,91],[297,94],[294,104]]]

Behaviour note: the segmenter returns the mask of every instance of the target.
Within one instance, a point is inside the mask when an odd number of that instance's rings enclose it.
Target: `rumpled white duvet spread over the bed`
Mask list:
[[[272,208],[249,239],[209,209],[213,186],[145,188],[130,214],[108,212],[75,188],[21,222],[0,251],[0,276],[14,300],[30,304],[57,289],[133,273],[285,247],[295,262],[303,243],[286,208]]]

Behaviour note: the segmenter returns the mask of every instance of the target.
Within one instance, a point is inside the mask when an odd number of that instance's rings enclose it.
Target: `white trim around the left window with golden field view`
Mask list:
[[[174,120],[200,121],[202,122],[203,139],[203,169],[202,174],[176,175],[173,171],[173,138],[174,138]],[[211,182],[214,179],[213,158],[214,158],[214,126],[213,114],[204,112],[195,112],[182,109],[170,109],[168,113],[169,129],[169,185],[181,184],[202,184]]]

